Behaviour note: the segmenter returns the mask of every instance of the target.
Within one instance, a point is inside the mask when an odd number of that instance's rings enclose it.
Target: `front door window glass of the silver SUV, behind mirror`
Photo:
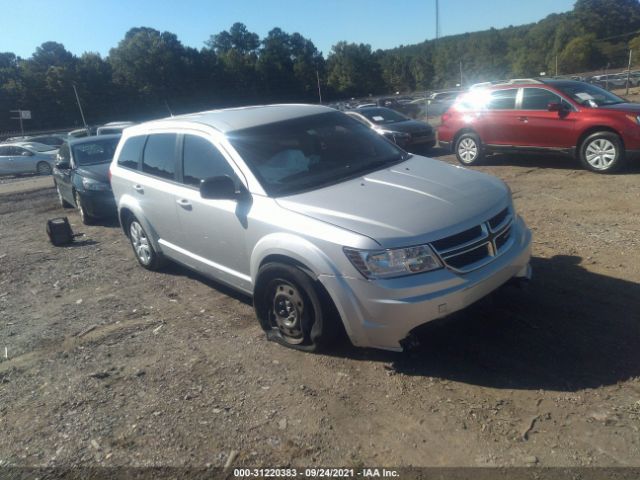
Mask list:
[[[182,174],[185,185],[199,187],[201,180],[221,175],[235,176],[222,153],[202,137],[185,135]]]

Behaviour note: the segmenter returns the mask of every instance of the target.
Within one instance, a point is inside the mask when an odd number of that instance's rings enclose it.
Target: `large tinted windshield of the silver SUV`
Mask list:
[[[409,157],[340,112],[238,130],[227,138],[272,197],[339,183]]]

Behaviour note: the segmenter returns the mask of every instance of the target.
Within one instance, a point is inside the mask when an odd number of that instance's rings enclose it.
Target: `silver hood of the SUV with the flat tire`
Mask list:
[[[414,156],[277,202],[391,248],[430,242],[478,225],[508,206],[510,194],[502,180],[490,175]]]

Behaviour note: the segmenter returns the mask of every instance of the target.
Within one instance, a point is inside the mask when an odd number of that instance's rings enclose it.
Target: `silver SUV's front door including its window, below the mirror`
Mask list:
[[[181,261],[227,284],[250,290],[245,248],[250,198],[203,199],[199,190],[202,180],[222,175],[238,184],[239,172],[221,147],[204,134],[184,134],[181,158],[181,184],[175,190]]]

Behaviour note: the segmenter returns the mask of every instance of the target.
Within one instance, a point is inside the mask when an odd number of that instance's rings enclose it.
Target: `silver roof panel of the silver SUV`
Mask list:
[[[304,104],[258,105],[227,108],[178,115],[163,120],[154,120],[129,127],[127,128],[127,132],[135,134],[144,132],[150,127],[169,127],[172,124],[177,125],[184,122],[194,122],[208,125],[222,133],[228,133],[269,123],[282,122],[294,118],[328,112],[335,112],[335,110],[321,105]]]

